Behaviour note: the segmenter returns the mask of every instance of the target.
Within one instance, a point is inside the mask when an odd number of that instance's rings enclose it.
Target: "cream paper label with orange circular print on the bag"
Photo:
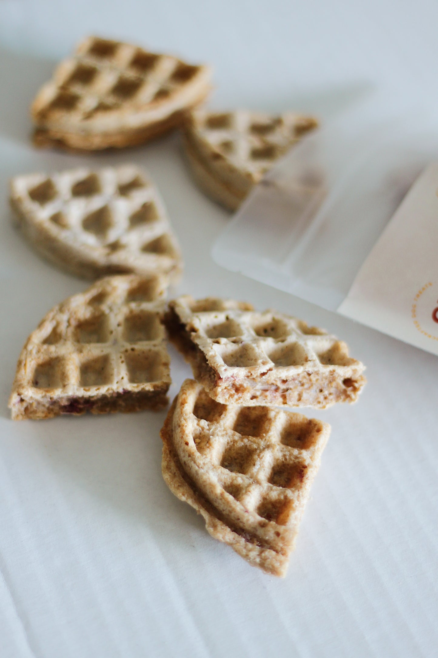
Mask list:
[[[438,163],[408,191],[338,311],[438,355]]]

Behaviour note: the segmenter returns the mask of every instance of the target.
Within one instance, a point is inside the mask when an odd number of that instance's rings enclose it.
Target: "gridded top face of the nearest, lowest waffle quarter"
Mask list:
[[[307,484],[322,423],[269,407],[220,405],[203,390],[192,414],[200,467],[245,513],[286,526]]]

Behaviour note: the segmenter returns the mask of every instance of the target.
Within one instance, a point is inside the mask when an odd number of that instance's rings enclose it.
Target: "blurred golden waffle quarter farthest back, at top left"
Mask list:
[[[85,150],[142,143],[181,125],[210,77],[208,66],[89,37],[33,101],[34,141]]]

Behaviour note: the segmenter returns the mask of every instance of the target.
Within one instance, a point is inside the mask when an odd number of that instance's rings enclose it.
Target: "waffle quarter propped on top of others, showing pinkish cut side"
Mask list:
[[[185,295],[169,302],[165,325],[194,378],[223,404],[325,409],[356,401],[366,382],[345,343],[276,311]]]

